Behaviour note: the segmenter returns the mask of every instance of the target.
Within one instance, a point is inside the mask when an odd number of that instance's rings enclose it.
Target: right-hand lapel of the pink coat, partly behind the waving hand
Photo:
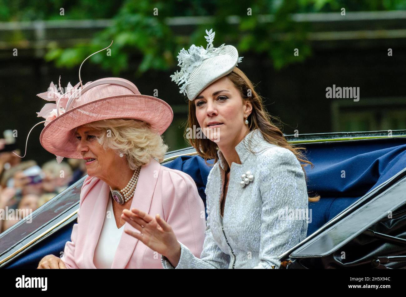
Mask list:
[[[138,177],[137,187],[135,189],[134,197],[130,209],[133,207],[149,213],[151,207],[152,196],[155,191],[155,186],[158,181],[158,174],[160,171],[160,164],[155,159],[141,167],[140,176]],[[106,204],[107,206],[107,204]],[[131,226],[128,222],[125,222],[125,229],[138,232],[136,228]],[[134,253],[134,249],[138,239],[123,232],[121,235],[119,246],[117,247],[116,254],[111,268],[123,269],[127,266],[130,257]],[[92,258],[93,259],[93,258]],[[138,263],[137,263],[138,264]]]

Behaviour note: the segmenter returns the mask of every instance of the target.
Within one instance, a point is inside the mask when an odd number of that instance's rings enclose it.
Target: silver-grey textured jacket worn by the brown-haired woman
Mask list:
[[[203,252],[199,259],[181,243],[177,269],[279,268],[279,256],[306,238],[308,195],[296,156],[264,140],[259,129],[248,133],[235,150],[242,164],[231,164],[224,218],[220,201],[228,164],[219,150],[205,190]],[[241,175],[247,171],[254,179],[241,187]],[[164,256],[161,259],[164,268],[173,268]]]

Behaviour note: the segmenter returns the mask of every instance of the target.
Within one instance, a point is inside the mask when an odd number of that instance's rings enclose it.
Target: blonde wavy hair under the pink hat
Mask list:
[[[139,166],[149,163],[151,157],[162,162],[168,146],[158,132],[151,129],[148,123],[132,118],[112,118],[95,121],[81,127],[101,131],[96,136],[104,150],[108,148],[122,153],[128,167],[135,170]],[[78,129],[78,127],[75,129]]]

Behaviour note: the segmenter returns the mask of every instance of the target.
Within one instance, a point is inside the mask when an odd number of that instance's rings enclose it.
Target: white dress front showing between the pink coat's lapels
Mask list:
[[[110,213],[108,213],[110,211]],[[109,214],[109,215],[108,215]],[[113,204],[111,195],[109,196],[106,208],[106,216],[104,217],[103,227],[100,232],[99,241],[95,248],[93,263],[98,269],[111,269],[114,255],[116,254],[121,235],[123,234],[124,226],[117,228],[116,220],[114,219]]]

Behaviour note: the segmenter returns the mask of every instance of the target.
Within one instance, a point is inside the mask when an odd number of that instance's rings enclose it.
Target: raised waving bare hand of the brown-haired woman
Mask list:
[[[166,223],[160,215],[155,218],[138,209],[124,209],[121,217],[140,233],[124,229],[128,235],[135,237],[147,245],[151,250],[168,258],[176,267],[180,258],[180,244],[176,239],[171,225]]]

